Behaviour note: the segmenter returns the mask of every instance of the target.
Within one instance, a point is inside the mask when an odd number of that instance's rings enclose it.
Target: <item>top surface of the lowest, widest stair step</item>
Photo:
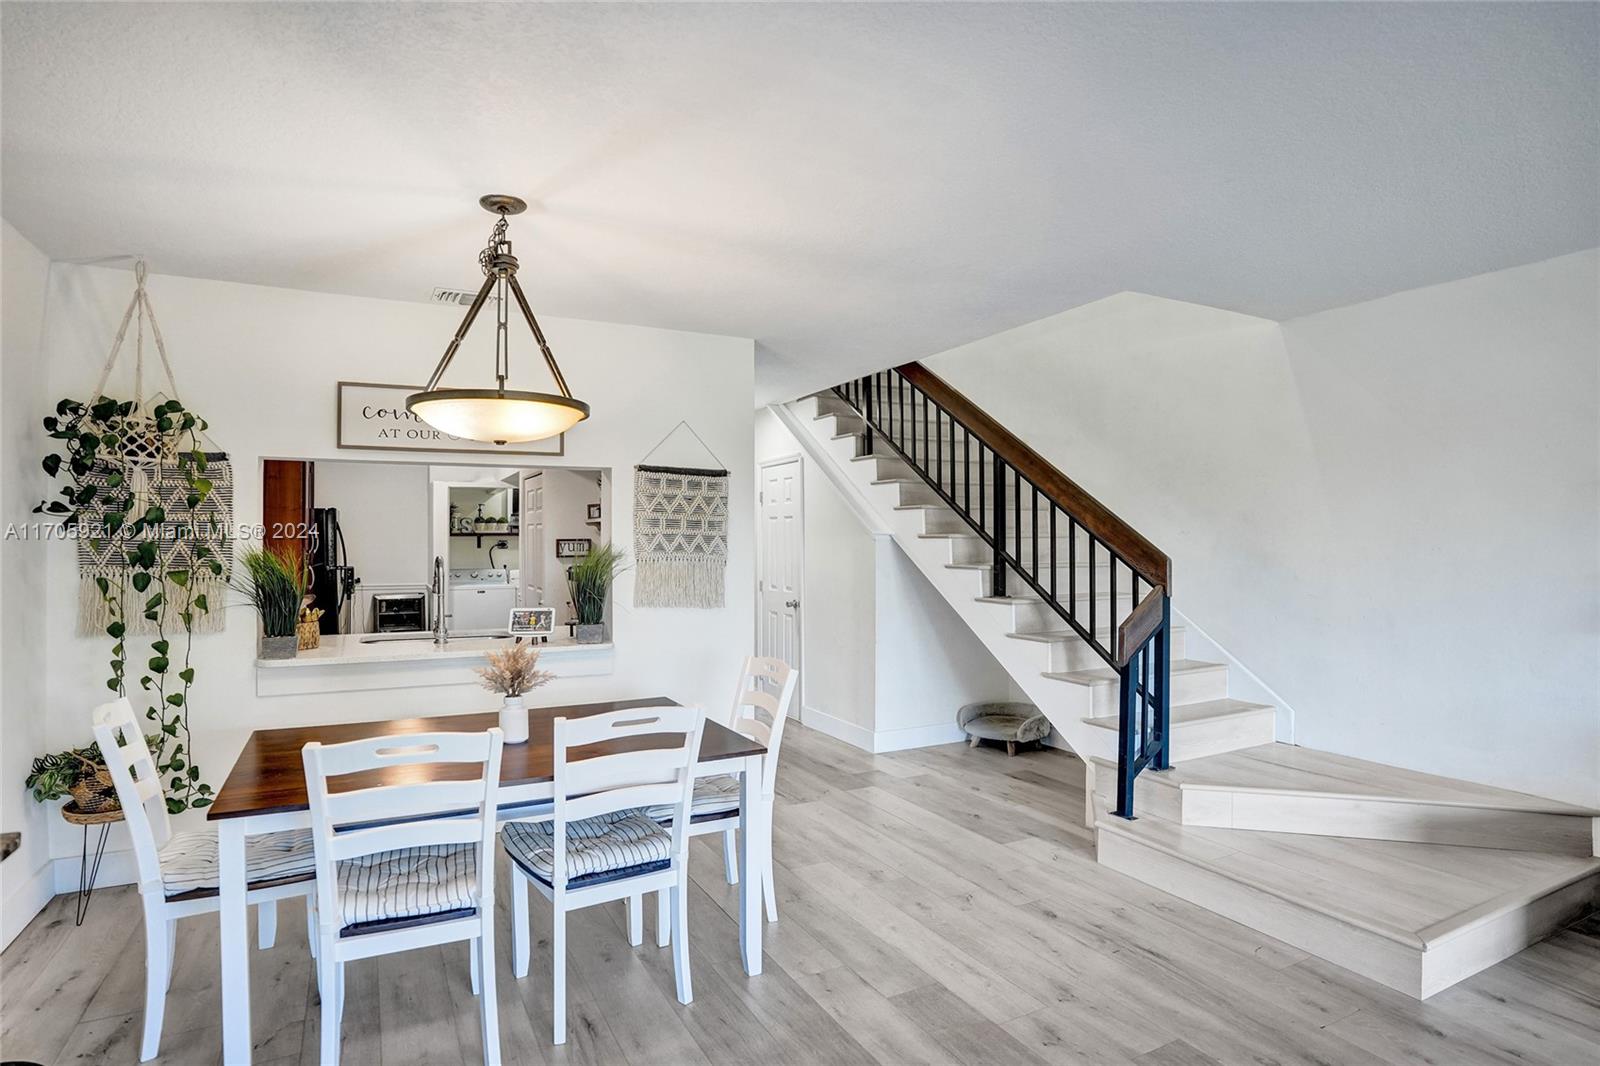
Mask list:
[[[1206,829],[1163,818],[1101,813],[1098,829],[1418,949],[1600,872],[1600,860],[1570,855]]]

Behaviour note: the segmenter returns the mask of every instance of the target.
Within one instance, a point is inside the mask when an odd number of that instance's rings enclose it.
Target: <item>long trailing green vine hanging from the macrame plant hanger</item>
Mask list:
[[[128,626],[131,600],[133,610],[155,631],[139,674],[139,691],[149,701],[146,717],[158,727],[150,751],[163,779],[166,808],[178,813],[208,807],[213,789],[202,779],[190,754],[189,691],[195,679],[190,664],[195,621],[210,613],[211,603],[195,587],[190,563],[216,578],[222,576],[224,565],[218,552],[198,538],[181,568],[168,568],[160,551],[165,538],[194,535],[195,514],[214,488],[206,477],[208,459],[200,442],[206,421],[184,410],[178,400],[163,400],[144,410],[131,400],[99,397],[91,403],[61,400],[43,424],[50,439],[61,443],[59,450],[45,455],[42,466],[51,477],[64,475],[67,483],[61,487],[59,499],[46,499],[34,512],[59,517],[70,533],[86,538],[96,551],[110,543],[115,555],[126,562],[126,568],[118,567],[115,579],[94,578],[107,619],[104,631],[112,640],[106,687],[128,695],[130,643],[134,635]],[[174,455],[189,488],[179,514],[168,514],[158,499],[141,499],[136,487],[128,483],[128,463],[165,455]],[[173,671],[178,656],[168,635],[174,611],[182,626],[182,666],[178,671]]]

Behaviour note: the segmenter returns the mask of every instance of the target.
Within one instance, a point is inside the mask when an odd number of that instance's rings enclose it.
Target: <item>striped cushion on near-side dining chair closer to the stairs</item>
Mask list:
[[[526,874],[550,884],[555,832],[547,821],[514,821],[501,829],[506,855]],[[566,884],[598,884],[666,869],[672,834],[642,810],[614,812],[566,823]]]

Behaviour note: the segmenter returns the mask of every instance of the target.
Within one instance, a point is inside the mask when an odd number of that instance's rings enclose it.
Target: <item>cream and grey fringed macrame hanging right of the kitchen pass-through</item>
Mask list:
[[[715,467],[651,466],[688,429]],[[722,607],[728,576],[728,471],[688,421],[634,467],[634,607]]]

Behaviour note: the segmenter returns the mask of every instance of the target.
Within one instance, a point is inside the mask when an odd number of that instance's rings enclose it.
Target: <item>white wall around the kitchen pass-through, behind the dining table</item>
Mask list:
[[[53,277],[48,391],[50,395],[77,395],[94,383],[133,275],[58,264]],[[459,322],[459,309],[451,307],[162,275],[150,279],[150,299],[182,399],[211,421],[216,445],[232,455],[237,519],[251,525],[261,520],[262,456],[382,459],[382,453],[341,453],[334,447],[334,383],[419,381]],[[592,405],[594,416],[566,435],[563,458],[541,459],[541,466],[627,469],[674,423],[688,418],[739,477],[731,488],[728,605],[696,611],[634,610],[632,573],[626,573],[616,587],[614,672],[557,679],[530,703],[667,695],[720,707],[728,698],[730,679],[750,653],[754,629],[750,597],[741,594],[752,587],[755,560],[750,496],[754,344],[739,338],[571,319],[546,319],[542,325],[573,392]],[[491,335],[482,330],[469,338],[450,383],[488,376]],[[542,371],[539,360],[528,357],[531,351],[531,343],[514,347],[512,383],[541,387]],[[126,376],[118,375],[114,387],[126,391]],[[459,455],[406,458],[462,463]],[[621,507],[613,527],[622,543],[630,543],[632,509]],[[34,712],[48,722],[56,744],[85,738],[88,711],[106,695],[106,645],[74,632],[74,589],[72,549],[51,546],[48,583],[40,599],[56,669],[48,698]],[[466,685],[258,698],[254,624],[245,608],[230,610],[226,632],[195,642],[198,677],[192,722],[198,730],[198,762],[214,786],[222,784],[253,728],[493,706],[490,693]],[[72,855],[75,861],[77,837],[66,826],[59,826],[53,844],[56,856]]]

